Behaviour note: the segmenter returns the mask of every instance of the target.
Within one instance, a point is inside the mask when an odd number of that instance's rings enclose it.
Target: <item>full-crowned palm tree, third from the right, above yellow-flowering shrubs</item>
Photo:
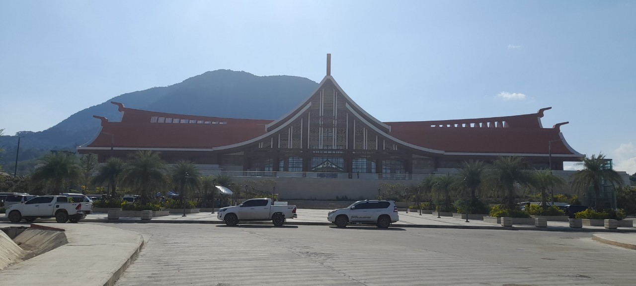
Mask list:
[[[495,193],[506,198],[508,208],[515,208],[515,185],[529,185],[532,174],[525,170],[521,157],[499,157],[487,171],[485,181]]]

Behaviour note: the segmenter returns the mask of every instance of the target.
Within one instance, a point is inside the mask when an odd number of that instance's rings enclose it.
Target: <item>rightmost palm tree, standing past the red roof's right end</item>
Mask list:
[[[574,173],[572,175],[572,189],[576,191],[587,191],[589,186],[594,189],[594,208],[602,210],[602,203],[600,197],[601,184],[607,182],[612,187],[623,186],[623,179],[621,176],[611,168],[607,168],[607,160],[603,153],[598,156],[592,155],[591,157],[585,156],[583,162],[579,163],[583,165],[583,170]]]

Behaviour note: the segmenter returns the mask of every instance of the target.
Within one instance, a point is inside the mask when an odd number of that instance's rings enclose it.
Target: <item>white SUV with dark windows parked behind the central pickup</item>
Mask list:
[[[397,222],[397,207],[395,201],[365,200],[356,201],[347,208],[331,210],[327,219],[338,228],[347,224],[375,224],[378,228],[388,228],[392,222]]]

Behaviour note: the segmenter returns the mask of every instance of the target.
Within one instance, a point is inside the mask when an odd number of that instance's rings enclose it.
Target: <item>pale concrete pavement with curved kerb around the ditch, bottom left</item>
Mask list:
[[[3,285],[113,285],[144,243],[138,233],[108,226],[38,224],[64,229],[68,243],[0,271]],[[17,225],[24,226],[0,228]]]

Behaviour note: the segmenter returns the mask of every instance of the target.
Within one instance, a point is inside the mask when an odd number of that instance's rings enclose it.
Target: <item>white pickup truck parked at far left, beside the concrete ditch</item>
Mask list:
[[[20,222],[22,219],[32,222],[50,217],[55,217],[55,221],[60,223],[79,222],[86,217],[81,207],[81,203],[69,203],[66,196],[36,196],[24,203],[11,205],[6,209],[6,217],[11,222]]]

